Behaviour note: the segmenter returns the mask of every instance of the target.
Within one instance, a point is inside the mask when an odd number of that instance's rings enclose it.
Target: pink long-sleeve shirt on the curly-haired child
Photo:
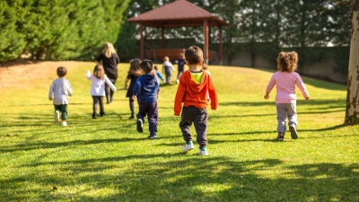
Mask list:
[[[267,84],[267,92],[271,92],[276,85],[276,103],[296,103],[295,85],[302,92],[304,98],[309,97],[309,92],[302,82],[301,76],[296,72],[278,71],[272,75]]]

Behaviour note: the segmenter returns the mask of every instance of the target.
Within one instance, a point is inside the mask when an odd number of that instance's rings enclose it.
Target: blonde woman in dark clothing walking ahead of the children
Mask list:
[[[102,48],[101,54],[96,58],[96,64],[102,64],[105,69],[105,74],[109,78],[111,83],[115,84],[118,79],[118,63],[119,57],[113,45],[109,42],[105,43]],[[109,88],[109,85],[105,84],[106,100],[109,104],[112,101],[113,91]]]

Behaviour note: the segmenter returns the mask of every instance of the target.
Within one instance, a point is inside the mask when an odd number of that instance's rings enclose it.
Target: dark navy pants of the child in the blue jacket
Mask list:
[[[141,102],[138,103],[139,111],[137,114],[137,119],[142,119],[144,122],[144,117],[148,117],[148,130],[150,135],[156,135],[157,124],[158,124],[158,108],[157,102]]]

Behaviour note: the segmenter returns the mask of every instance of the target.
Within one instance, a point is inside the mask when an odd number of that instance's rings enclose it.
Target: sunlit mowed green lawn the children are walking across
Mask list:
[[[345,85],[302,77],[311,99],[297,91],[300,137],[276,142],[276,91],[263,99],[273,71],[209,66],[219,106],[208,108],[209,155],[199,156],[197,145],[182,154],[176,84],[161,88],[159,138],[147,139],[147,122],[136,132],[122,90],[128,64],[106,115],[92,119],[93,66],[66,66],[68,127],[48,101],[56,68],[0,89],[0,201],[359,201],[359,127],[342,125]]]

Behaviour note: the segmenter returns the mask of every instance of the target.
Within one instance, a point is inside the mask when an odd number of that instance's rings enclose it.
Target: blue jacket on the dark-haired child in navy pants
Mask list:
[[[137,78],[134,95],[137,96],[138,102],[156,102],[159,91],[160,85],[153,74],[145,74]]]

